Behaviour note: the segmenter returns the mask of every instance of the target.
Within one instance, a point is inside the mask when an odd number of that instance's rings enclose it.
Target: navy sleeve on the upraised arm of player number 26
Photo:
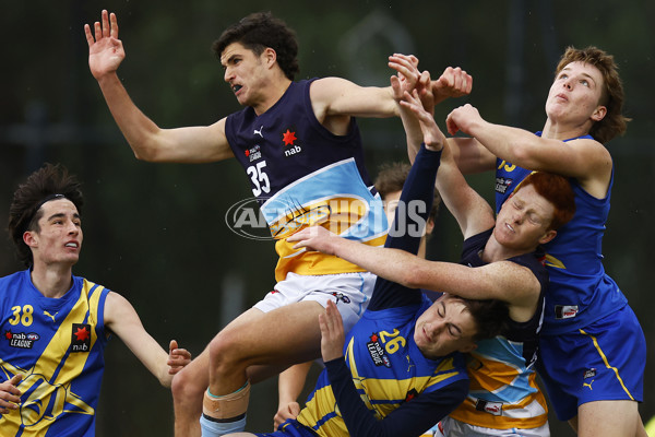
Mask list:
[[[429,151],[421,144],[414,165],[403,186],[401,201],[386,237],[384,247],[402,249],[416,255],[425,225],[434,201],[434,180],[441,163],[441,151]],[[378,276],[371,310],[420,304],[420,292]]]

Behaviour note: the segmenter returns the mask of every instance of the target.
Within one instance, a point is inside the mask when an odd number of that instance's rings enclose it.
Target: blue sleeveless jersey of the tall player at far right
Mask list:
[[[541,132],[537,132],[540,135]],[[591,135],[581,137],[593,139]],[[575,140],[575,139],[571,139]],[[571,141],[567,140],[567,141]],[[562,142],[562,146],[564,146]],[[496,210],[531,172],[498,160]],[[605,273],[602,243],[609,214],[611,180],[604,199],[588,194],[571,178],[575,215],[545,245],[550,285],[546,294],[543,334],[577,330],[623,307],[628,300],[616,282]]]

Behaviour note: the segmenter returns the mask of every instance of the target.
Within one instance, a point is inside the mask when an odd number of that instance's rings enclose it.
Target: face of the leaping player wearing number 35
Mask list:
[[[233,43],[223,50],[221,64],[225,69],[224,80],[237,101],[243,106],[254,106],[266,83],[261,57],[240,43]]]

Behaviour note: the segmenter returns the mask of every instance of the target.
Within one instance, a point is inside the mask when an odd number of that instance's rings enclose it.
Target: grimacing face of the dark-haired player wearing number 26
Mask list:
[[[414,341],[426,357],[437,358],[455,351],[473,351],[476,329],[462,300],[444,294],[416,321]]]

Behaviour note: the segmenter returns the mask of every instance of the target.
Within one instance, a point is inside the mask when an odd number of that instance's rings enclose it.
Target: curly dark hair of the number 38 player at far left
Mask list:
[[[19,259],[26,267],[31,267],[34,259],[32,250],[23,241],[23,234],[27,231],[40,231],[38,227],[38,221],[43,215],[40,208],[47,201],[59,197],[73,202],[78,213],[82,214],[84,200],[80,186],[76,177],[70,175],[64,166],[46,163],[29,175],[27,180],[14,191],[9,208],[7,228],[16,248]]]

